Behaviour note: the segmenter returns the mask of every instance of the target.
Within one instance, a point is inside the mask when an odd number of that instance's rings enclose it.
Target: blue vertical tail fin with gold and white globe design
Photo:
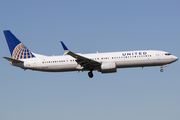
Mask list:
[[[4,35],[13,59],[27,59],[35,56],[23,45],[9,30],[4,30]]]

